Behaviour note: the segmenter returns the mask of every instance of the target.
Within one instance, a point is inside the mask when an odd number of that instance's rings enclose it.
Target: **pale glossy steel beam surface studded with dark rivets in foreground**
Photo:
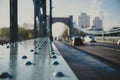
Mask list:
[[[48,38],[0,45],[0,80],[78,80],[52,46],[55,54]]]

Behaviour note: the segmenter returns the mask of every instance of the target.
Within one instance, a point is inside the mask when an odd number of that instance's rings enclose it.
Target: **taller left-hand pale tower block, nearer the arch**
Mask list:
[[[90,26],[90,16],[87,13],[81,13],[78,17],[78,25],[80,28],[87,28]]]

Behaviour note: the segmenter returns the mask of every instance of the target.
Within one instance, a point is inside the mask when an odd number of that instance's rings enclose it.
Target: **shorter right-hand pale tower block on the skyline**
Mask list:
[[[93,30],[101,31],[102,30],[102,19],[95,17],[93,20]]]

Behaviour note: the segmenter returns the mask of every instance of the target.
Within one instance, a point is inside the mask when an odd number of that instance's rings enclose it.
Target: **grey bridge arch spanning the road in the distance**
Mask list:
[[[69,17],[53,17],[52,18],[52,24],[57,23],[57,22],[64,23],[65,25],[67,25],[69,27],[70,37],[72,37],[74,35],[74,32],[73,32],[73,17],[72,16],[69,16]]]

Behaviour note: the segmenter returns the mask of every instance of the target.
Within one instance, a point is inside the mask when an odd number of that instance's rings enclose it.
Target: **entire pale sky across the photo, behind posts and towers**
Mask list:
[[[18,24],[33,24],[33,0],[18,0]],[[48,1],[48,0],[47,0]],[[78,16],[86,12],[92,20],[95,16],[103,18],[104,30],[120,26],[120,0],[52,0],[53,16],[73,15],[78,24]],[[0,0],[0,27],[9,26],[9,0]]]

